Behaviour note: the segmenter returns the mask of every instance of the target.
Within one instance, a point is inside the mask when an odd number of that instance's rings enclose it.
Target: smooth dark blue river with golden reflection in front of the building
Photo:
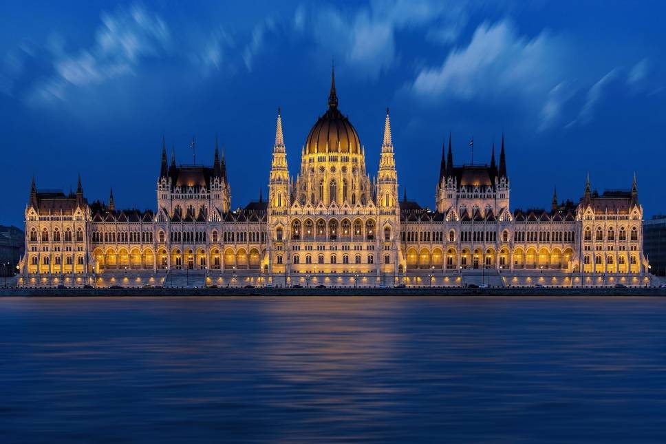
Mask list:
[[[0,299],[0,441],[666,441],[666,299]]]

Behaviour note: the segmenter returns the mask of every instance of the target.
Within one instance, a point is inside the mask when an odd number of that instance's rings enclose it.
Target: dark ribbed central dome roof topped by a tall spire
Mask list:
[[[361,142],[350,120],[338,109],[335,92],[335,74],[331,76],[331,93],[328,96],[328,111],[310,129],[305,142],[307,154],[351,153],[361,154]]]

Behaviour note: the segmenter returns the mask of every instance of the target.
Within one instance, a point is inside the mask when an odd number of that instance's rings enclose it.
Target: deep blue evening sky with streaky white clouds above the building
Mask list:
[[[193,4],[191,4],[193,3]],[[290,171],[341,110],[378,166],[391,108],[400,193],[433,207],[442,140],[488,162],[506,137],[512,207],[628,188],[666,211],[666,31],[660,1],[106,1],[0,4],[0,223],[23,222],[30,177],[118,207],[155,206],[162,134],[179,162],[225,147],[233,207],[266,187],[277,107]],[[29,6],[28,6],[29,5]]]

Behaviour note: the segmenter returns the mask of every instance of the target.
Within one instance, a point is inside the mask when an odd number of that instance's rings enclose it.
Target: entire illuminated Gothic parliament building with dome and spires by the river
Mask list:
[[[385,116],[378,175],[338,109],[328,109],[290,177],[280,113],[268,198],[231,210],[224,154],[177,165],[162,140],[157,209],[118,210],[76,193],[36,189],[25,209],[23,286],[644,285],[643,209],[630,190],[592,191],[578,204],[511,210],[504,137],[487,165],[456,165],[442,147],[435,210],[398,197]]]

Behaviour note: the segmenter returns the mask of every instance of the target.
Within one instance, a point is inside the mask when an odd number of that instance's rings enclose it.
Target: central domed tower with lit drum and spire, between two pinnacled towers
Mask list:
[[[365,171],[365,149],[349,118],[338,109],[331,72],[328,110],[316,121],[301,151],[295,197],[301,205],[365,205],[372,186]]]

